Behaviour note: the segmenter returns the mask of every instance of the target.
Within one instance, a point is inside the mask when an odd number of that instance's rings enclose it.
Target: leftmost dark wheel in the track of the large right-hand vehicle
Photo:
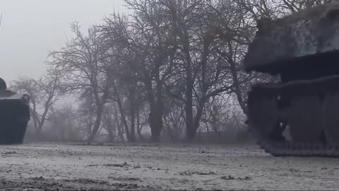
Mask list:
[[[248,108],[249,126],[254,129],[256,137],[268,139],[278,124],[276,96],[254,89],[249,93]]]

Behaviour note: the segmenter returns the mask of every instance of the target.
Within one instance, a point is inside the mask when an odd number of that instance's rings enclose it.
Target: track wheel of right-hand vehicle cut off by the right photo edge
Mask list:
[[[339,143],[339,92],[326,94],[323,103],[323,127],[328,144]]]

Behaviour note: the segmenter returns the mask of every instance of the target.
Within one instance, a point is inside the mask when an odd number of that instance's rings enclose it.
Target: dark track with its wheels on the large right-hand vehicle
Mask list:
[[[339,157],[339,75],[256,84],[247,106],[248,124],[266,153]],[[287,125],[289,141],[283,138]]]

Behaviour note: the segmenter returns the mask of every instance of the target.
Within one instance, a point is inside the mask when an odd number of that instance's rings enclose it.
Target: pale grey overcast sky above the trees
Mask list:
[[[114,11],[129,13],[123,0],[0,0],[0,77],[38,77],[49,50],[64,45],[70,23],[82,29]]]

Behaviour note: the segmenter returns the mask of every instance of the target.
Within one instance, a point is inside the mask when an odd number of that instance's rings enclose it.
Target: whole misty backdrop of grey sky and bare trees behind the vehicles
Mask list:
[[[0,76],[30,95],[26,141],[252,142],[247,92],[275,79],[242,61],[259,18],[306,3],[284,4],[1,1]]]

